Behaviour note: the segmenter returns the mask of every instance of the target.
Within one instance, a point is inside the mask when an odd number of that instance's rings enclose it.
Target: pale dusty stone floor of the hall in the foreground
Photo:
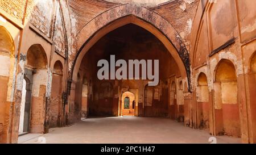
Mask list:
[[[184,127],[165,118],[89,118],[47,134],[27,134],[18,143],[209,143],[207,131]],[[217,136],[217,143],[240,143],[239,138]]]

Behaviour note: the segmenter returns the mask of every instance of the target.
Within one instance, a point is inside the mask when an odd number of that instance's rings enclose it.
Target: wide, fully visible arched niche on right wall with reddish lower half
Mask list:
[[[214,81],[214,108],[217,134],[241,137],[237,76],[230,60],[223,59],[217,65]]]

